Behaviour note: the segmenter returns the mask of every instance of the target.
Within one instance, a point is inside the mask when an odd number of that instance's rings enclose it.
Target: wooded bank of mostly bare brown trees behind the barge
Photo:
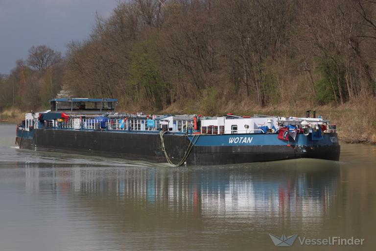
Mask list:
[[[120,0],[64,55],[30,45],[0,74],[0,120],[55,97],[117,98],[131,113],[316,110],[342,141],[375,144],[375,20],[365,0]]]

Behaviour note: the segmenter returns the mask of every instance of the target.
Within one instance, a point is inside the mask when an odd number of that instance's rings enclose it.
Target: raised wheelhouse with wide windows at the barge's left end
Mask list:
[[[66,114],[105,114],[115,112],[117,99],[61,98],[49,100],[51,111]]]

